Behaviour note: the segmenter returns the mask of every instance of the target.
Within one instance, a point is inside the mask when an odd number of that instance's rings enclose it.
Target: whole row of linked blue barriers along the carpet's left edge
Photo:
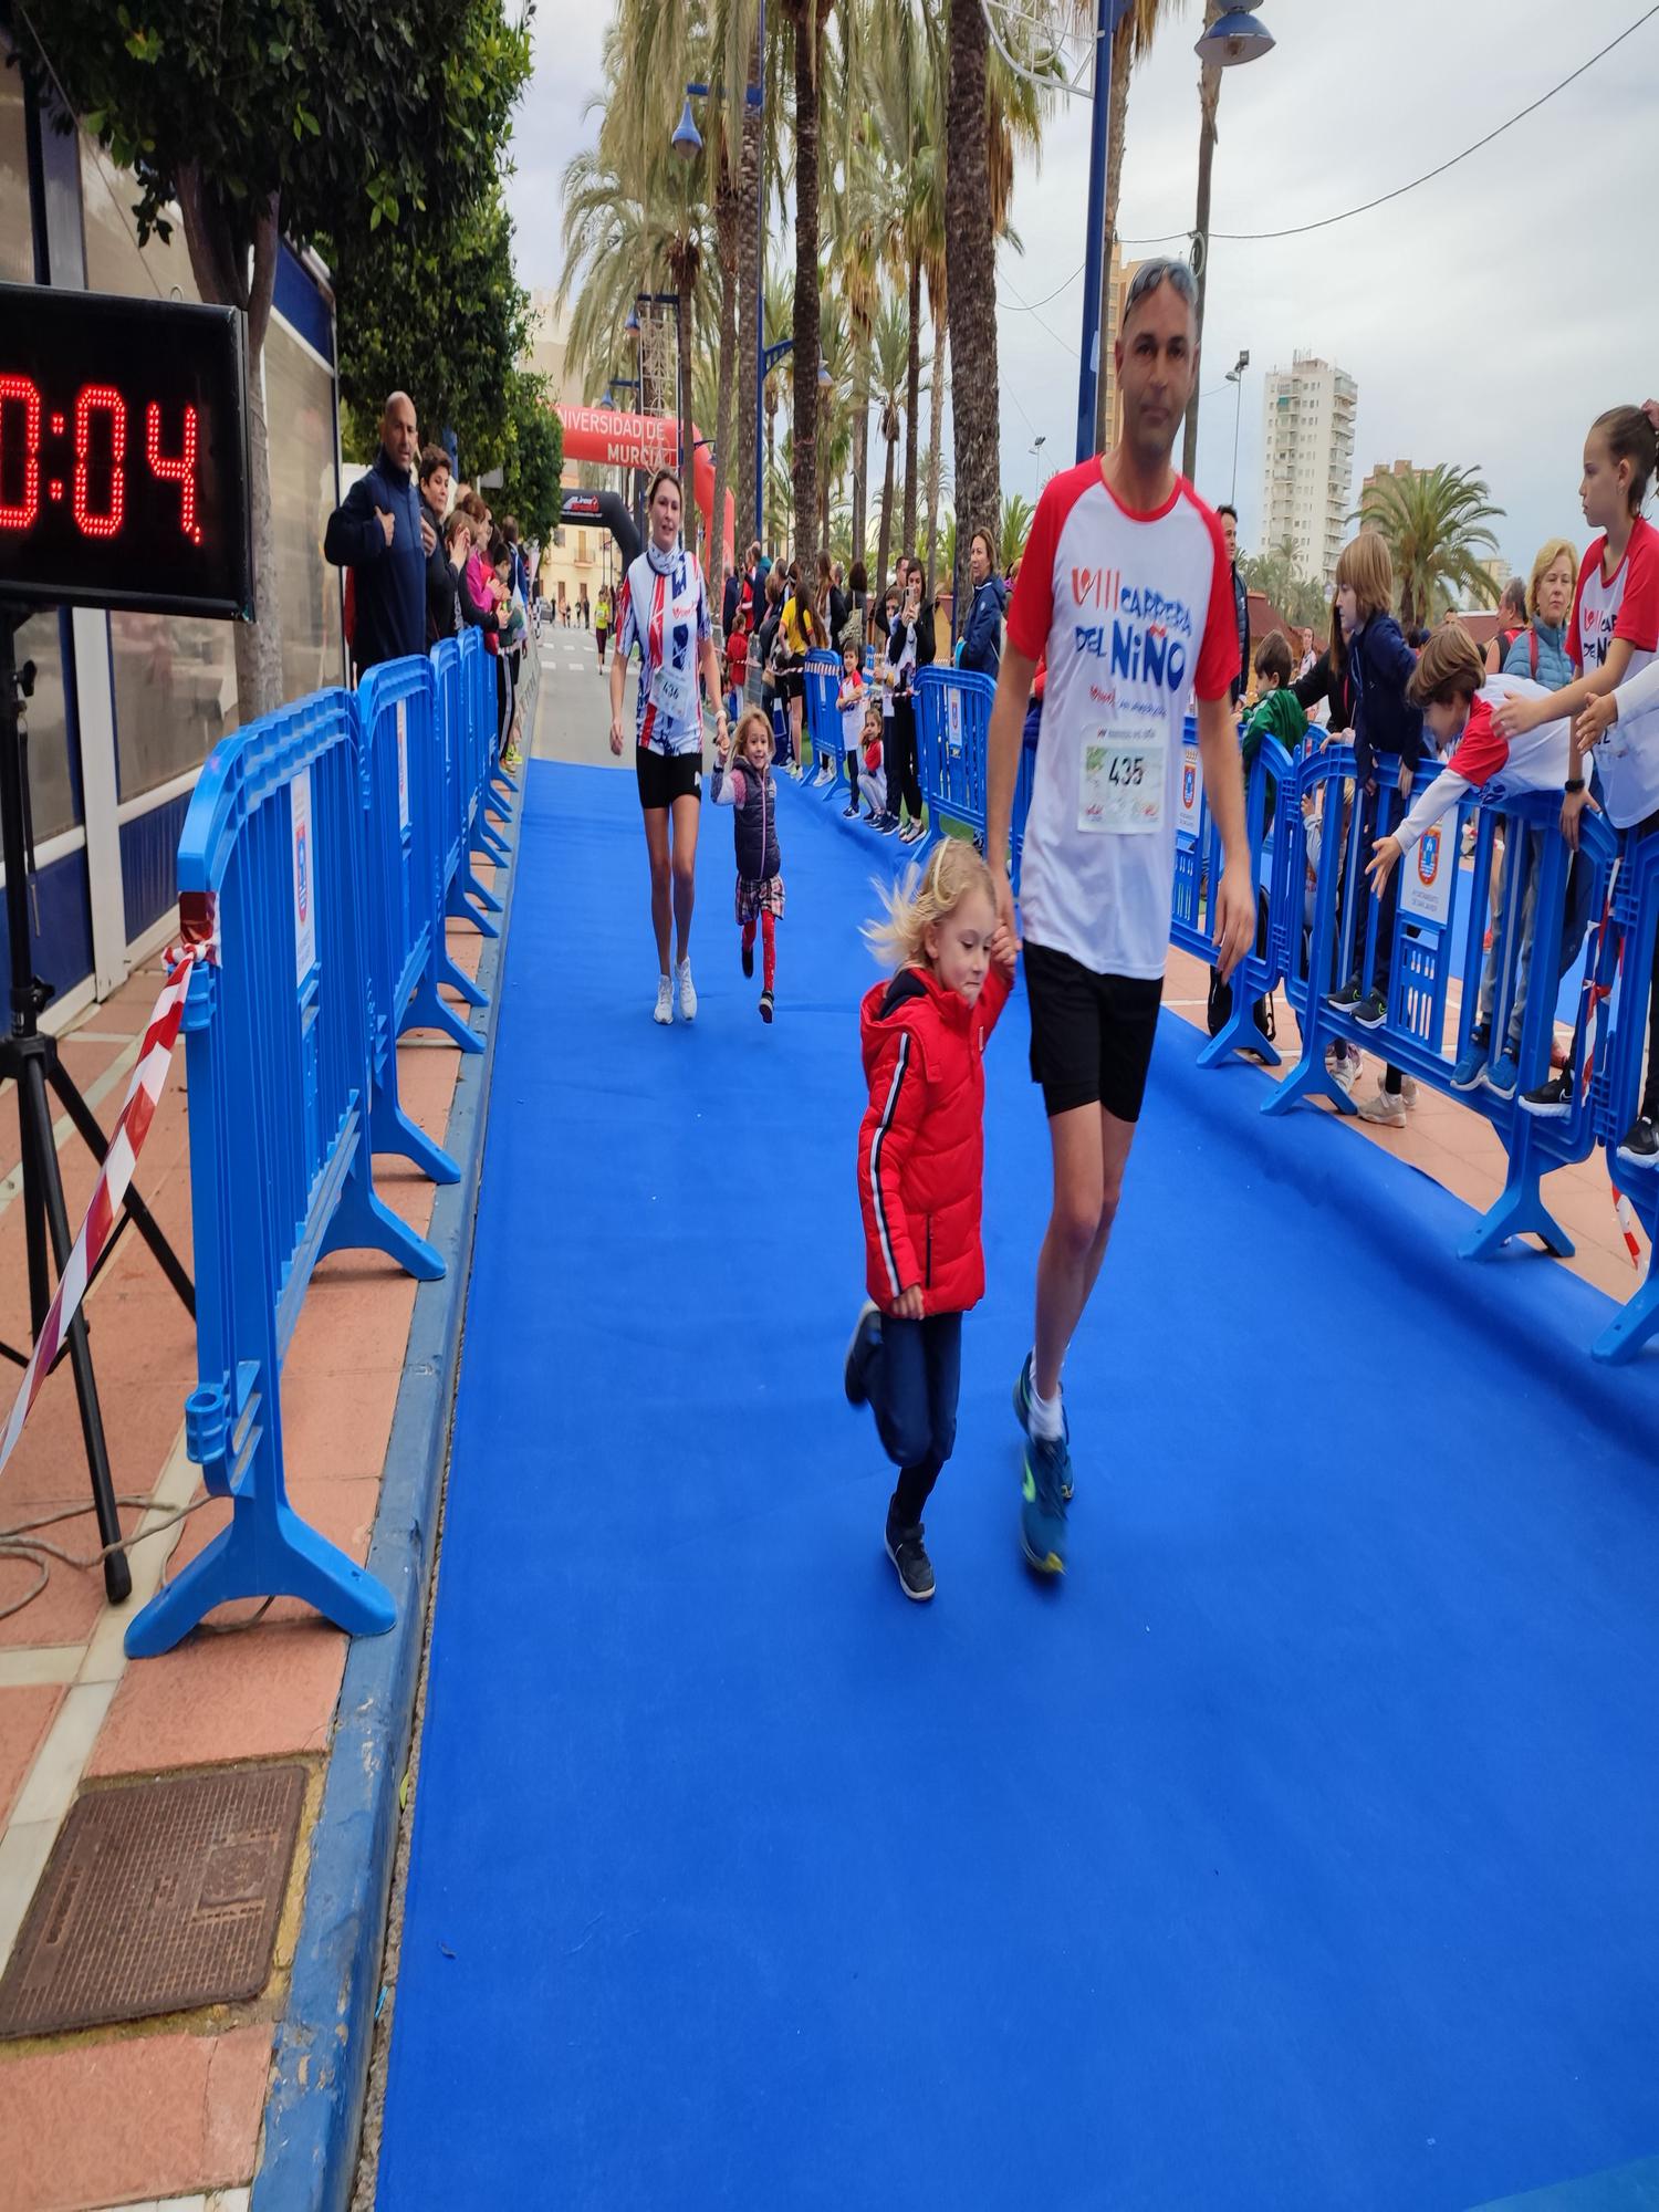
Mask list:
[[[489,706],[489,719],[484,719]],[[396,1040],[478,1037],[440,998],[489,1000],[445,914],[493,933],[471,878],[498,779],[495,672],[476,633],[316,692],[215,748],[179,838],[179,909],[204,947],[184,1009],[197,1389],[186,1444],[232,1517],[126,1630],[153,1657],[234,1597],[301,1597],[354,1635],[385,1588],[288,1504],[281,1365],[316,1263],[376,1250],[434,1281],[440,1254],[374,1192],[374,1152],[434,1181],[456,1161],[398,1106]],[[480,887],[482,889],[482,887]]]

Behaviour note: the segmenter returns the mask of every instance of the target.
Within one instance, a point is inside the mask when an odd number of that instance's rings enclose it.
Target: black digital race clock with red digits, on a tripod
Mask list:
[[[252,619],[237,307],[0,285],[0,602]]]

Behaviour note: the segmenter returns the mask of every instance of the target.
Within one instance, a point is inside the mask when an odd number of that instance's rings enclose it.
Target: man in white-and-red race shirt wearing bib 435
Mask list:
[[[1095,1287],[1152,1060],[1175,885],[1181,723],[1197,697],[1203,781],[1225,845],[1217,964],[1256,927],[1239,739],[1232,573],[1221,524],[1170,467],[1197,383],[1194,283],[1148,261],[1115,347],[1124,436],[1051,478],[1031,524],[991,710],[987,854],[1006,876],[1031,679],[1046,657],[1020,902],[1031,1075],[1042,1084],[1055,1203],[1037,1261],[1035,1347],[1013,1402],[1026,1431],[1020,1535],[1040,1573],[1066,1564],[1066,1347]]]

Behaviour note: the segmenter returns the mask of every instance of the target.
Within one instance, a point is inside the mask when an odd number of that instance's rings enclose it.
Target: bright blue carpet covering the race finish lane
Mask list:
[[[1166,1015],[1035,1586],[1015,1000],[907,1606],[841,1396],[894,852],[781,827],[776,1026],[708,814],[664,1033],[633,779],[529,770],[383,2212],[1396,2212],[1655,2152],[1659,1363]]]

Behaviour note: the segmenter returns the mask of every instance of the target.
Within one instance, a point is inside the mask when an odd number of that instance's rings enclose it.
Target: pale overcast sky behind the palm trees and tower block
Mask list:
[[[511,188],[529,285],[560,274],[560,173],[597,128],[582,108],[599,84],[604,13],[542,0],[538,15]],[[1223,77],[1212,228],[1276,230],[1387,192],[1644,13],[1646,0],[1261,0],[1279,46]],[[1133,257],[1181,250],[1128,241],[1192,223],[1199,22],[1192,0],[1130,91],[1121,232]],[[1405,199],[1312,237],[1212,241],[1201,392],[1219,389],[1201,409],[1197,480],[1206,498],[1228,498],[1234,394],[1223,374],[1248,347],[1245,546],[1261,513],[1261,380],[1298,347],[1358,380],[1356,500],[1378,460],[1480,465],[1515,568],[1544,538],[1584,542],[1584,431],[1604,407],[1659,392],[1657,117],[1659,11],[1537,115]],[[1044,473],[1073,453],[1086,204],[1088,102],[1075,100],[1053,113],[1042,166],[1018,173],[1024,252],[1002,248],[998,265],[1002,484],[1026,498],[1037,434]]]

